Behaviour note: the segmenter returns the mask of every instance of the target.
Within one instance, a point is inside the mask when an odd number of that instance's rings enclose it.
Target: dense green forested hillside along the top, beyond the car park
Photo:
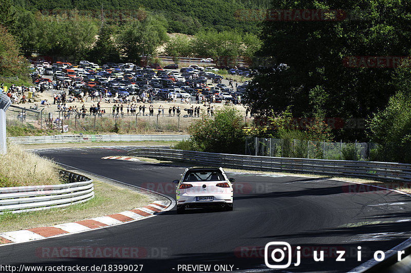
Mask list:
[[[10,3],[10,0],[2,0]],[[186,0],[186,1],[111,1],[111,0],[13,0],[17,8],[24,8],[35,13],[41,10],[45,14],[61,13],[63,11],[78,9],[89,14],[93,19],[101,20],[101,10],[105,14],[105,21],[109,24],[121,25],[125,21],[139,20],[138,10],[144,8],[147,12],[161,15],[166,20],[168,32],[178,32],[193,35],[199,30],[232,30],[241,32],[257,32],[257,21],[238,20],[235,17],[237,10],[268,8],[269,0]],[[11,5],[1,5],[8,7]],[[8,16],[13,18],[13,16]]]

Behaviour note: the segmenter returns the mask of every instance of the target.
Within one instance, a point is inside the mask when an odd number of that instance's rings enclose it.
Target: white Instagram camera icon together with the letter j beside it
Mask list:
[[[297,247],[298,249],[298,247]],[[291,265],[291,245],[286,242],[270,242],[264,249],[264,261],[269,268],[287,268]],[[284,260],[287,259],[287,263]],[[300,265],[300,257],[297,256],[297,263]]]

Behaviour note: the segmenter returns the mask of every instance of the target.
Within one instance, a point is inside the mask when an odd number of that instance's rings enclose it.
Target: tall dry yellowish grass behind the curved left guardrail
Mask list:
[[[60,184],[59,168],[20,145],[8,145],[0,156],[0,187]]]

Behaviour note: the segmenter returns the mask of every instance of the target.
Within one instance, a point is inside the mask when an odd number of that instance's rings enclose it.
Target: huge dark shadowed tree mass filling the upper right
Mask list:
[[[260,68],[246,102],[266,115],[293,105],[295,116],[365,118],[383,108],[396,93],[394,68],[351,68],[350,56],[408,56],[410,12],[394,0],[317,2],[274,0],[272,6],[291,10],[342,9],[365,11],[363,17],[324,21],[266,21],[259,56],[275,56],[274,66]],[[364,12],[363,12],[364,13]],[[352,20],[355,19],[355,20]],[[388,41],[388,42],[387,42]],[[281,69],[282,64],[287,69]],[[408,77],[410,77],[408,75]],[[364,139],[364,131],[341,131],[345,139]]]

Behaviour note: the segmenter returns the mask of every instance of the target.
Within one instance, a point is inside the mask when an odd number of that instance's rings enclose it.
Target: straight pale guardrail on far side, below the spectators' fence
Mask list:
[[[11,144],[69,143],[99,141],[183,141],[190,135],[55,135],[8,137]]]

